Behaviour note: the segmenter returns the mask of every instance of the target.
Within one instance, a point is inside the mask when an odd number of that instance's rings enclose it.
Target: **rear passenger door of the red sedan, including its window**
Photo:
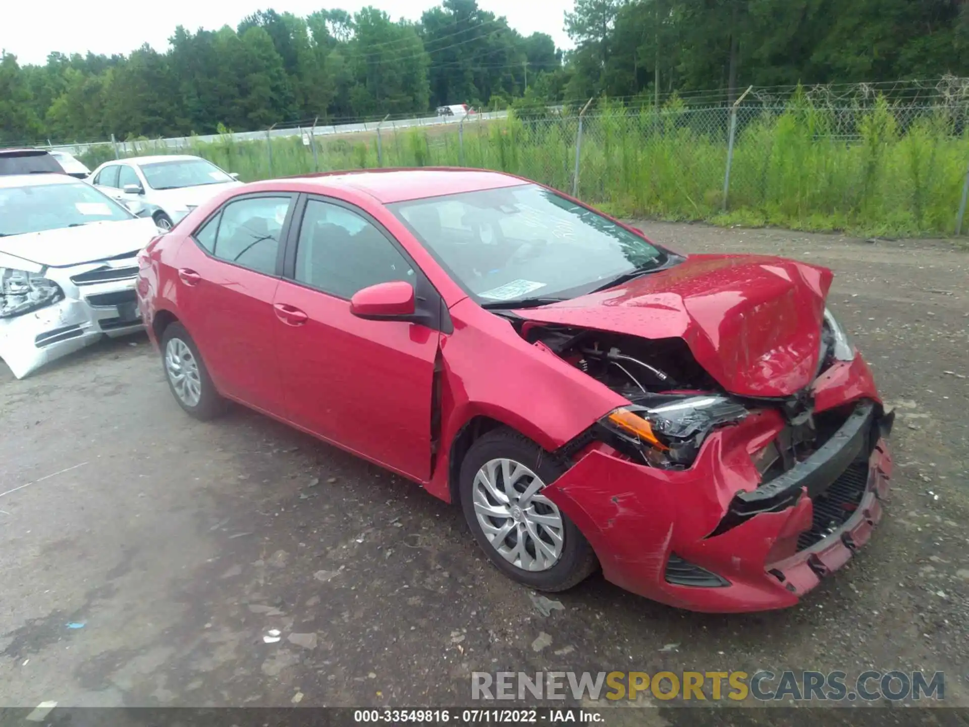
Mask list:
[[[285,414],[272,304],[294,200],[286,193],[235,197],[176,257],[179,314],[216,387],[277,416]]]

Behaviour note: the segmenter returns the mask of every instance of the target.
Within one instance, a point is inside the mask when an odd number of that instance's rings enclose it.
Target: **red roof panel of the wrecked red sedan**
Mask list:
[[[287,181],[301,182],[306,191],[309,187],[327,189],[351,189],[370,195],[384,205],[426,197],[442,197],[462,192],[479,192],[528,184],[528,180],[511,174],[469,170],[462,168],[423,168],[404,170],[367,170],[309,174],[289,177]]]

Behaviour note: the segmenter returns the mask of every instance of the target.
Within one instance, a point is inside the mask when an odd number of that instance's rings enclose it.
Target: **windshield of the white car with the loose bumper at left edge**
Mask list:
[[[130,219],[131,212],[84,182],[0,187],[0,236]]]

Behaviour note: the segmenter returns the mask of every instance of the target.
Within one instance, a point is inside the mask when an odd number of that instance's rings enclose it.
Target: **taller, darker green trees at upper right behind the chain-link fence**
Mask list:
[[[969,75],[964,0],[576,0],[566,94]]]

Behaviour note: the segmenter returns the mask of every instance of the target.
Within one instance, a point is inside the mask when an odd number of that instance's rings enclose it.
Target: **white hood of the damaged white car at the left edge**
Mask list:
[[[157,235],[158,228],[151,219],[92,222],[81,227],[0,237],[0,253],[65,268],[137,252]]]

